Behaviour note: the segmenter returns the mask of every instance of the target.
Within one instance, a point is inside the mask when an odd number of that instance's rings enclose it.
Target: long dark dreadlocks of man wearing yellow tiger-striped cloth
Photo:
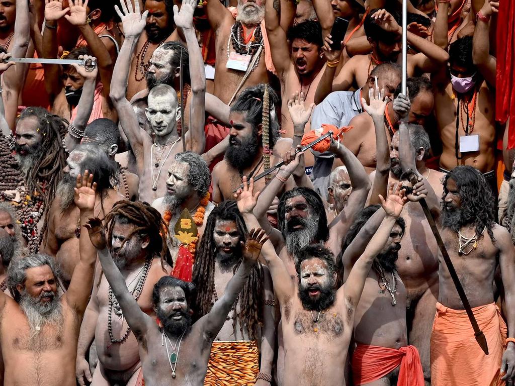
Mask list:
[[[197,288],[194,319],[198,320],[211,311],[213,306],[213,292],[215,290],[215,252],[216,245],[213,240],[216,220],[228,220],[236,223],[241,240],[245,241],[248,234],[247,226],[239,213],[235,201],[224,201],[216,206],[208,217],[205,224],[204,237],[200,240],[200,247],[195,257],[193,266],[193,284]],[[239,261],[234,267],[234,272],[243,261]],[[251,271],[243,291],[239,295],[240,331],[248,331],[251,339],[259,336],[260,325],[263,324],[263,269],[261,264],[255,264]],[[234,307],[233,328],[236,328],[236,305]]]

